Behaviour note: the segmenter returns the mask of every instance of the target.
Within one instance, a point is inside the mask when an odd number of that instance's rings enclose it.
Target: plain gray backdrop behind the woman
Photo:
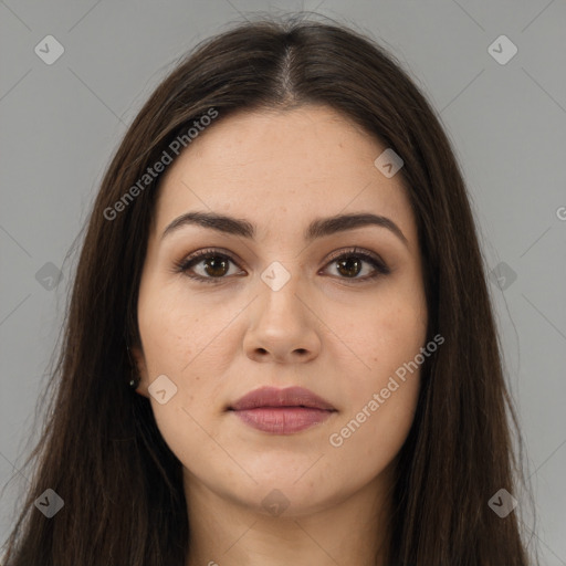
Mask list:
[[[111,154],[186,50],[258,11],[303,8],[369,32],[440,113],[486,266],[506,276],[490,287],[535,491],[534,542],[543,564],[566,565],[564,0],[0,0],[0,490],[12,479],[0,491],[0,544],[28,481],[19,469],[75,265],[65,255]],[[65,51],[48,65],[34,48],[50,34]],[[501,34],[518,49],[506,64],[488,51]]]

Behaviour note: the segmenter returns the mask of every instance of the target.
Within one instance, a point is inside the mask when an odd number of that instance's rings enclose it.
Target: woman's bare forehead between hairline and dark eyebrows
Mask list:
[[[166,170],[155,231],[196,209],[248,218],[260,238],[275,226],[296,230],[315,217],[366,210],[390,217],[410,240],[400,175],[386,178],[374,165],[385,149],[327,106],[220,114]]]

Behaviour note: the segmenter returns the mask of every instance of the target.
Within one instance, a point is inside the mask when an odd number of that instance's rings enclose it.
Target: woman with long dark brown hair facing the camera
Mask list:
[[[370,40],[260,21],[182,61],[65,331],[7,566],[527,564],[462,175]]]

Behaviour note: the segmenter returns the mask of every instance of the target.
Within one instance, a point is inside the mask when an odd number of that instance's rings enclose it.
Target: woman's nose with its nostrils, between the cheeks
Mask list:
[[[243,347],[254,361],[296,364],[318,356],[321,323],[306,297],[297,293],[296,280],[297,275],[292,276],[279,291],[265,285],[252,303]]]

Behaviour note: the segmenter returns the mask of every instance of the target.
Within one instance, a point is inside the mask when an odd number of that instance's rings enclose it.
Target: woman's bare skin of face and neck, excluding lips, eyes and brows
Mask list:
[[[364,566],[376,556],[385,564],[388,493],[419,371],[342,446],[329,437],[426,345],[417,227],[400,175],[386,178],[374,165],[386,146],[326,106],[221,118],[165,174],[140,282],[142,344],[133,350],[137,391],[184,464],[187,565]],[[188,211],[245,219],[255,239],[198,226],[161,239]],[[388,217],[407,243],[376,226],[303,239],[312,220],[353,212]],[[378,254],[390,273],[364,282],[370,263],[356,274],[329,261],[353,247]],[[208,248],[234,261],[219,284],[176,271],[176,262]],[[275,261],[290,275],[279,291],[261,279]],[[218,263],[207,269],[201,260],[192,273],[213,279]],[[160,405],[148,386],[164,374],[177,392]],[[336,411],[285,436],[226,410],[265,385],[305,387]],[[289,504],[279,515],[262,505],[275,489]]]

